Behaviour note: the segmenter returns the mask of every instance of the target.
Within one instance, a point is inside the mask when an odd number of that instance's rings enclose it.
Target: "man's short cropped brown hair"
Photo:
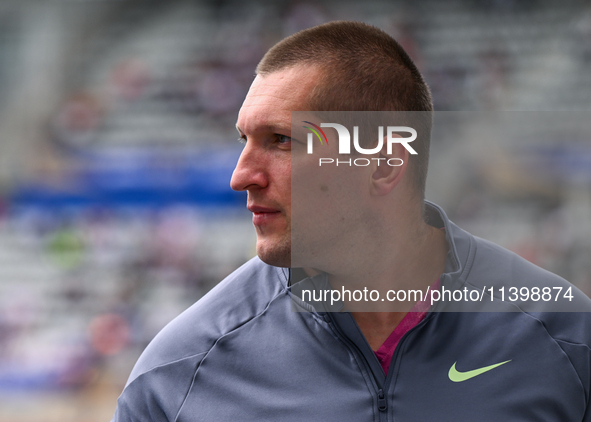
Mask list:
[[[277,43],[257,66],[267,75],[297,65],[325,70],[310,111],[421,111],[409,171],[424,197],[433,102],[412,59],[390,35],[374,26],[335,21],[305,29]],[[412,114],[412,113],[411,113]],[[416,120],[416,119],[415,119]]]

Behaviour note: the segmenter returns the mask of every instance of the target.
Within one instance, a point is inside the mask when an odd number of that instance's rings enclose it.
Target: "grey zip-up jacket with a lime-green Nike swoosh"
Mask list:
[[[450,245],[442,287],[571,287],[427,211]],[[350,313],[294,312],[312,308],[294,299],[290,271],[254,258],[158,334],[113,420],[591,421],[591,301],[579,293],[585,312],[435,305],[386,375]]]

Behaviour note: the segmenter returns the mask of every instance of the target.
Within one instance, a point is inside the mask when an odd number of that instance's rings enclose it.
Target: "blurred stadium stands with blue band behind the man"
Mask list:
[[[267,48],[335,19],[392,34],[444,111],[428,198],[591,292],[586,1],[0,0],[0,421],[109,420],[254,255],[237,111]]]

